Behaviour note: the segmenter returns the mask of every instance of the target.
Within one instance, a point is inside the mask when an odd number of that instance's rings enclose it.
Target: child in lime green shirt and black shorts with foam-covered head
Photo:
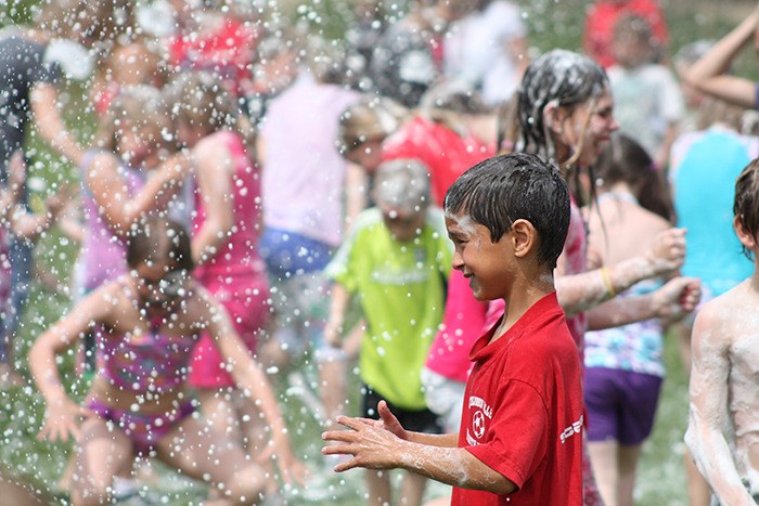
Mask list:
[[[350,295],[358,295],[366,322],[359,352],[362,416],[378,418],[382,399],[411,430],[440,433],[424,399],[421,372],[442,322],[453,248],[441,210],[429,205],[429,176],[421,161],[381,164],[372,196],[376,207],[359,213],[326,268],[336,283],[324,337],[338,345]],[[391,504],[387,472],[368,472],[366,484],[370,504]],[[421,504],[425,484],[423,476],[406,476],[403,504]]]

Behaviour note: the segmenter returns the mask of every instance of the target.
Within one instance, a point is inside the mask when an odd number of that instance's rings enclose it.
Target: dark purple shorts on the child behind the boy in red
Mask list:
[[[654,427],[661,378],[605,367],[586,368],[588,440],[641,444]]]

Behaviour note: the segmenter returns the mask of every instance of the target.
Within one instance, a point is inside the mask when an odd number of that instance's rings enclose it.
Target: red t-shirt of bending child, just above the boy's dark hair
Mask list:
[[[459,176],[494,154],[494,146],[471,135],[461,137],[421,116],[386,139],[382,146],[383,161],[414,158],[427,166],[433,198],[438,205],[442,205],[446,192]]]

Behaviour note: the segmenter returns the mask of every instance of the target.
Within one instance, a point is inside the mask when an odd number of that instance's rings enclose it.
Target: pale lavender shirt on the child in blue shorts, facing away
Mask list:
[[[346,163],[335,141],[340,114],[357,99],[303,74],[272,101],[261,129],[267,226],[339,244]]]

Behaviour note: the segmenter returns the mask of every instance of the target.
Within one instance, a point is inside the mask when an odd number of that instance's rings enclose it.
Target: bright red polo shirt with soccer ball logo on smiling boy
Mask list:
[[[459,446],[513,481],[498,495],[453,489],[453,506],[582,504],[582,390],[577,347],[552,293],[472,348]]]

